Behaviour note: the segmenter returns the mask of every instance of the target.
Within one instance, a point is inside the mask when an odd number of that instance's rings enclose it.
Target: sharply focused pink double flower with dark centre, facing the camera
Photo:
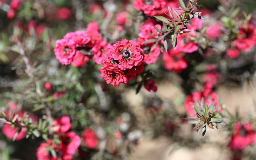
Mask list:
[[[139,66],[143,62],[143,50],[138,42],[132,40],[122,40],[116,42],[110,50],[108,50],[114,60],[117,60],[118,68],[121,70],[130,69],[133,66]]]

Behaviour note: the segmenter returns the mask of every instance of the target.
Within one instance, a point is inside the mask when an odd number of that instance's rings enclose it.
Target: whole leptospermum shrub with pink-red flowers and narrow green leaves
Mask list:
[[[215,89],[254,78],[252,14],[228,1],[214,13],[198,0],[134,0],[118,11],[119,1],[50,2],[0,0],[13,31],[2,33],[0,60],[18,53],[10,70],[20,79],[1,80],[1,98],[16,101],[1,104],[4,136],[36,141],[38,160],[111,160],[128,158],[144,131],[194,143],[179,133],[188,122],[202,137],[224,128],[232,156],[250,157],[255,117],[230,113]],[[186,95],[178,105],[158,95],[164,80]],[[132,96],[124,98],[130,90],[144,98],[146,125],[127,104]]]

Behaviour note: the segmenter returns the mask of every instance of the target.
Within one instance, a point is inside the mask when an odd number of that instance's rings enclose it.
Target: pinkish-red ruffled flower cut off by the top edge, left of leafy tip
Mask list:
[[[166,7],[167,0],[134,0],[133,5],[136,10],[142,10],[147,16],[162,15]]]

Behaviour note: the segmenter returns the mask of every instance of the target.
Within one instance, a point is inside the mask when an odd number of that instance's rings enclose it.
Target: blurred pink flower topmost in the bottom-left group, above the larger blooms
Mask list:
[[[62,116],[54,122],[54,128],[56,133],[66,133],[71,128],[70,118],[68,116]]]

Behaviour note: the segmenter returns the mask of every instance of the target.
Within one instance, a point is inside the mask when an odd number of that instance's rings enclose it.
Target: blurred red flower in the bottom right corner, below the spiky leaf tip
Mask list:
[[[231,137],[229,146],[232,150],[241,150],[255,142],[256,134],[252,129],[252,124],[234,124],[234,134]]]

